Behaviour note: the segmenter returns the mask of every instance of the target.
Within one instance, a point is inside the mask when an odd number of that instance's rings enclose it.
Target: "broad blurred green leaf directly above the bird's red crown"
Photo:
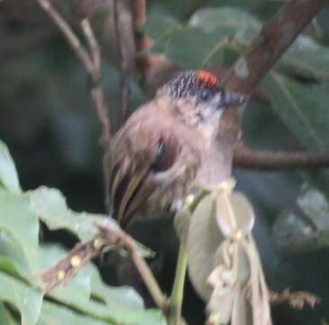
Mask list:
[[[260,30],[257,19],[233,7],[201,9],[188,23],[170,21],[168,28],[163,27],[167,16],[151,20],[159,31],[152,34],[151,51],[164,52],[174,62],[194,69],[231,64]]]

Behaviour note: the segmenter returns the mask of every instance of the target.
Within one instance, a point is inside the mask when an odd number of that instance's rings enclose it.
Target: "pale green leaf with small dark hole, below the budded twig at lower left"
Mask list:
[[[38,254],[32,256],[34,272],[41,274],[41,271],[55,265],[64,255],[65,251],[59,246],[41,247]],[[105,285],[91,263],[69,283],[59,284],[50,292],[50,297],[74,310],[115,323],[137,325],[161,324],[163,321],[160,311],[144,309],[142,298],[132,288]]]

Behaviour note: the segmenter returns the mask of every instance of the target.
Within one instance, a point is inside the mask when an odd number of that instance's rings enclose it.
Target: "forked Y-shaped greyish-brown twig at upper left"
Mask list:
[[[82,32],[85,35],[88,51],[81,45],[78,36],[69,27],[69,24],[63,19],[56,8],[51,5],[49,0],[36,0],[43,10],[50,15],[50,18],[59,27],[67,39],[72,50],[75,51],[78,59],[82,62],[91,81],[91,96],[96,106],[96,112],[102,125],[101,143],[106,146],[110,144],[111,139],[111,123],[109,116],[109,108],[104,99],[103,87],[101,84],[101,52],[95,34],[89,20],[87,18],[86,8],[82,9],[83,16],[80,22]],[[85,6],[85,2],[81,2],[81,6]]]

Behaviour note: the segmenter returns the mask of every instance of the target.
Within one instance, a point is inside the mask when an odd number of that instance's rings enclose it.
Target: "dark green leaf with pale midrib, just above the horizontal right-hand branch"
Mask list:
[[[272,72],[264,80],[274,111],[310,149],[329,147],[329,85],[304,86]]]

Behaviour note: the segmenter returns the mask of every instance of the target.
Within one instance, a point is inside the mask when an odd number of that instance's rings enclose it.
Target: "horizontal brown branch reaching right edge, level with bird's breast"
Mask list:
[[[279,171],[329,167],[329,153],[255,151],[242,147],[234,151],[233,164],[256,171]]]

